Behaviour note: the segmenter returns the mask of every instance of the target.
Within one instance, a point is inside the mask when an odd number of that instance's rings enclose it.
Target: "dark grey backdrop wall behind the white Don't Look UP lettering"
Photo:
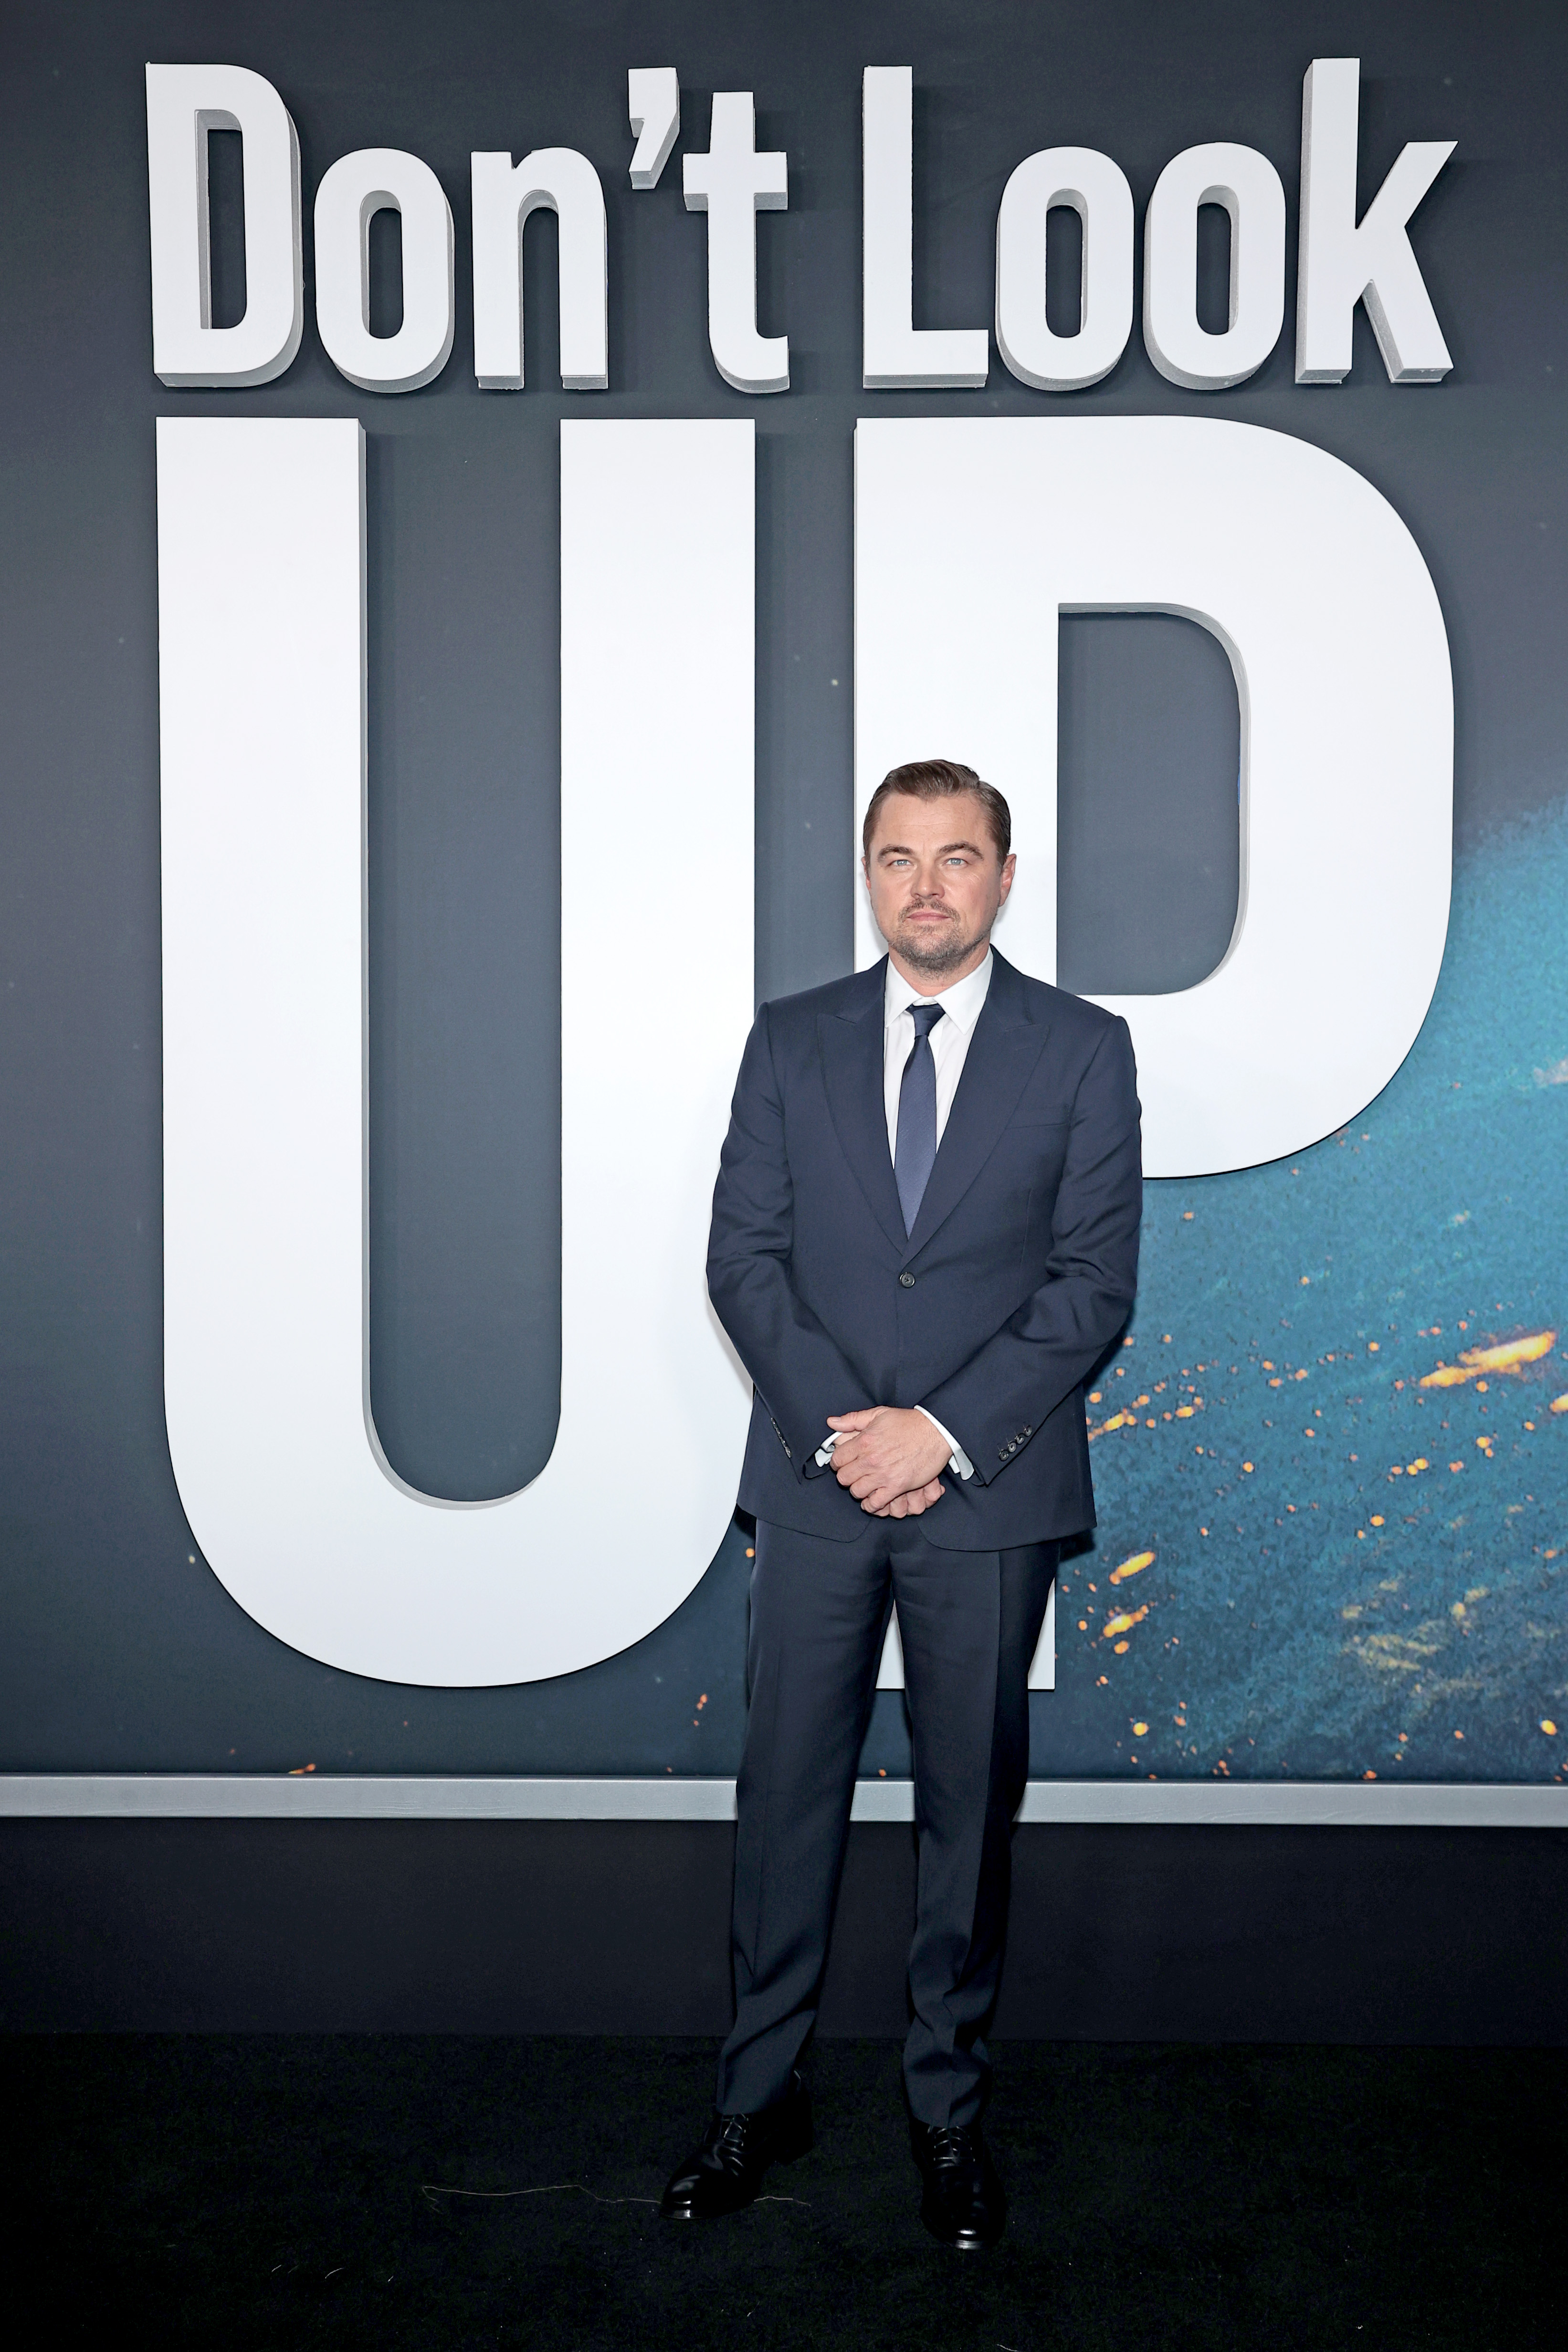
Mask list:
[[[851,430],[865,412],[1208,412],[1345,456],[1434,572],[1460,835],[1483,830],[1563,790],[1568,24],[1526,5],[404,0],[12,7],[0,40],[0,1769],[726,1771],[743,1529],[635,1651],[484,1693],[299,1658],[193,1557],[160,1397],[153,419],[357,414],[369,433],[374,1402],[409,1479],[503,1494],[541,1468],[555,1425],[557,887],[592,882],[557,882],[559,416],[757,419],[759,995],[849,962]],[[1105,148],[1143,207],[1178,148],[1248,141],[1279,165],[1295,228],[1314,54],[1363,61],[1363,202],[1406,139],[1460,141],[1415,223],[1455,355],[1443,386],[1392,388],[1359,320],[1340,388],[1291,381],[1288,322],[1251,383],[1208,400],[1164,383],[1138,336],[1070,400],[999,362],[985,393],[858,390],[865,64],[914,66],[917,322],[978,325],[1001,183],[1046,143]],[[374,400],[336,376],[310,325],[308,245],[306,343],[280,383],[158,386],[146,59],[266,73],[299,125],[306,207],[348,148],[407,146],[437,169],[458,221],[458,334],[435,386]],[[783,397],[748,402],[712,369],[705,223],[682,209],[679,151],[656,193],[628,186],[632,64],[679,68],[682,146],[708,143],[715,87],[750,87],[759,143],[788,148],[790,209],[759,223],[762,327],[790,334]],[[604,181],[607,395],[550,390],[548,216],[527,240],[534,388],[473,386],[468,153],[543,143],[583,148]],[[1222,261],[1211,240],[1208,299]],[[378,252],[390,301],[393,263]],[[1288,266],[1293,280],[1293,245]],[[1063,654],[1063,978],[1180,985],[1234,913],[1234,694],[1182,623],[1072,621]],[[654,1030],[661,971],[698,943],[701,908],[672,877],[649,936]],[[637,1543],[635,1524],[621,1541]],[[870,1762],[903,1755],[898,1700],[882,1700]],[[1072,1759],[1063,1691],[1037,1708],[1037,1769]]]

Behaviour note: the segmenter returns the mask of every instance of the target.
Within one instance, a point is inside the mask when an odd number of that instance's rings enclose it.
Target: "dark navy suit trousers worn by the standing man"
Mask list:
[[[905,2091],[919,2124],[980,2114],[1011,1823],[1030,1771],[1030,1661],[1058,1550],[945,1552],[919,1519],[867,1517],[849,1543],[757,1522],[736,2025],[719,2053],[719,2112],[780,2098],[816,2023],[856,1764],[898,1602],[919,1839]]]

